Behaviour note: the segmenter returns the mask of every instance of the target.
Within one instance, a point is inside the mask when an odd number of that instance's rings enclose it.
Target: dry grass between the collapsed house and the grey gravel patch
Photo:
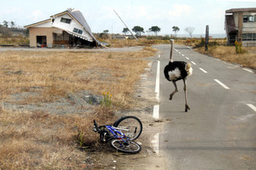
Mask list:
[[[31,102],[49,102],[68,92],[90,90],[95,94],[110,92],[113,104],[129,107],[133,85],[147,65],[139,58],[153,54],[147,49],[127,53],[3,52],[1,97],[40,87],[41,97]]]

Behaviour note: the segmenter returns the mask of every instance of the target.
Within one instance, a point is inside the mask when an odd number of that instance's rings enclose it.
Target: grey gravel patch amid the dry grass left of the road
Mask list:
[[[53,102],[32,103],[26,102],[29,96],[37,97],[38,92],[22,92],[12,94],[9,101],[3,101],[3,108],[14,111],[45,111],[51,114],[79,114],[94,111],[95,105],[101,105],[102,96],[92,94],[90,91],[68,93],[67,98],[55,99]],[[11,102],[10,102],[11,101]]]

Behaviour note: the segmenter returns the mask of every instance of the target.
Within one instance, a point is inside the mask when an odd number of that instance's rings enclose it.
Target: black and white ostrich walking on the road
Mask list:
[[[177,84],[178,80],[183,79],[184,82],[184,93],[185,93],[185,111],[187,112],[190,108],[188,105],[187,99],[187,77],[192,75],[192,67],[190,63],[186,63],[184,61],[172,61],[172,53],[173,53],[173,46],[174,40],[171,39],[171,53],[170,53],[170,61],[169,64],[166,65],[164,73],[165,77],[168,81],[172,82],[175,90],[170,94],[170,100],[172,100],[172,96],[177,92]]]

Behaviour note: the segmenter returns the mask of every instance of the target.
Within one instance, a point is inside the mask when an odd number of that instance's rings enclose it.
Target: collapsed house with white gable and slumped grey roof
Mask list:
[[[30,47],[83,48],[100,45],[83,14],[72,8],[24,27],[29,29]]]

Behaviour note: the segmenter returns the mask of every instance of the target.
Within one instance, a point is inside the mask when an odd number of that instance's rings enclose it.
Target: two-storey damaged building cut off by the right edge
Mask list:
[[[241,42],[256,46],[256,8],[231,8],[225,11],[227,45]]]

